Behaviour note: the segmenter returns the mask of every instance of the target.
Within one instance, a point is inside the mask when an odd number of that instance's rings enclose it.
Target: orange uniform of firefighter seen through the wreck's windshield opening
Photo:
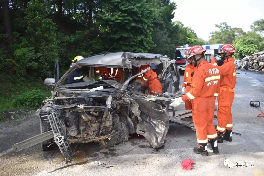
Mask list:
[[[105,76],[105,78],[116,78],[119,82],[121,80],[121,70],[117,68],[104,68],[104,67],[96,67],[96,75],[101,76],[101,73]]]

